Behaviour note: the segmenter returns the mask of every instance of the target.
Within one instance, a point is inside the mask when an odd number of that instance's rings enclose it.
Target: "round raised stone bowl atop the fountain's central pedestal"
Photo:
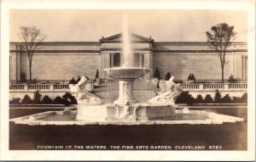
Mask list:
[[[116,67],[103,70],[109,77],[115,79],[137,79],[147,74],[149,70],[145,68],[133,68],[133,67]]]

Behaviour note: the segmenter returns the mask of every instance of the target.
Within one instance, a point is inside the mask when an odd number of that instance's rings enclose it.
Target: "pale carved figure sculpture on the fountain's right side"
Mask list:
[[[163,88],[165,87],[165,88]],[[174,76],[165,82],[159,94],[148,100],[148,103],[164,103],[175,105],[175,100],[183,92],[181,85],[174,83]]]

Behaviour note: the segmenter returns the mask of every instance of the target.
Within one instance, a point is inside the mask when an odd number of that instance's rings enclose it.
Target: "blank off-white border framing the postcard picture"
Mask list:
[[[9,10],[14,8],[244,9],[248,11],[247,151],[9,151]],[[2,160],[255,160],[255,1],[18,1],[1,2]],[[231,136],[231,135],[230,135]],[[65,153],[65,154],[63,154]]]

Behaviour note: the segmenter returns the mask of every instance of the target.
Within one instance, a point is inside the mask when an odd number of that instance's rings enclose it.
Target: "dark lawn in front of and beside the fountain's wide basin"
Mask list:
[[[60,110],[60,109],[47,109]],[[31,150],[38,146],[222,146],[223,150],[247,149],[247,109],[207,109],[243,117],[245,122],[223,125],[152,126],[26,126],[10,123],[9,149]],[[45,109],[10,109],[10,118],[44,112]],[[64,148],[65,149],[65,148]],[[75,149],[75,148],[71,148]],[[84,148],[86,149],[86,148]]]

